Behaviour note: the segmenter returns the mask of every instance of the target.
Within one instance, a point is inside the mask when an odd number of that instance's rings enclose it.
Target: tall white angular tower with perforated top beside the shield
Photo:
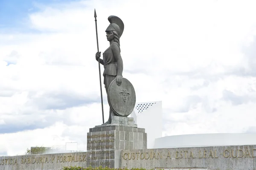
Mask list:
[[[154,148],[155,139],[162,137],[162,101],[136,103],[131,117],[138,127],[145,128],[148,149]]]

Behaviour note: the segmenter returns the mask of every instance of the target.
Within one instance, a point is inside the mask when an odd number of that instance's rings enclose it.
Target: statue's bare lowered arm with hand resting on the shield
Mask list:
[[[121,85],[122,83],[122,71],[123,71],[123,62],[122,62],[122,57],[120,54],[120,48],[116,45],[112,45],[112,51],[114,54],[114,57],[116,59],[117,63],[117,76],[116,76],[116,84]]]

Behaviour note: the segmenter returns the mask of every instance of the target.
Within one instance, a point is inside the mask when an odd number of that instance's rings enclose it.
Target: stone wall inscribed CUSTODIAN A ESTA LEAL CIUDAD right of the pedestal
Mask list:
[[[124,167],[256,170],[256,145],[122,150]]]

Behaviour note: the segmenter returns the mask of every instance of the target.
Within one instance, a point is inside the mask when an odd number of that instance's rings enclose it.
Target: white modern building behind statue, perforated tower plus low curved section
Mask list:
[[[162,101],[136,103],[131,113],[135,124],[145,128],[148,149],[256,144],[255,133],[210,133],[162,137]]]

